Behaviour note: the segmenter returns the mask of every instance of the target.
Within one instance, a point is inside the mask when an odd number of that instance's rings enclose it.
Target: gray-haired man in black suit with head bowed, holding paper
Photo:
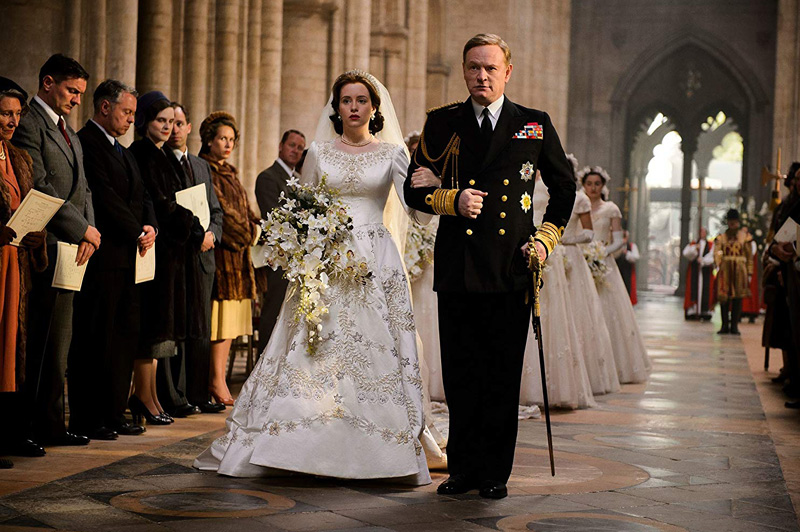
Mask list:
[[[136,256],[155,253],[157,222],[139,166],[117,141],[133,123],[136,96],[117,80],[103,81],[94,91],[94,117],[78,132],[104,238],[75,296],[70,430],[99,440],[144,432],[124,414],[140,334]]]

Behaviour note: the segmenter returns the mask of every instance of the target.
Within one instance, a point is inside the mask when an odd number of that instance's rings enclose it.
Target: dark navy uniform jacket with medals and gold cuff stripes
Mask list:
[[[436,291],[503,293],[525,290],[530,277],[521,248],[535,233],[533,188],[536,170],[550,202],[542,223],[563,230],[575,201],[575,179],[550,117],[512,103],[508,97],[488,147],[483,145],[472,102],[428,112],[422,139],[408,169],[406,203],[434,213],[435,187],[411,187],[411,174],[427,166],[442,177],[443,189],[488,192],[477,219],[442,215],[434,248]],[[455,204],[458,205],[458,196]]]

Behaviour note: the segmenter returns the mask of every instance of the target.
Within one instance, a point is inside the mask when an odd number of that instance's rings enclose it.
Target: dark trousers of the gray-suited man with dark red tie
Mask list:
[[[57,440],[66,434],[64,382],[72,341],[72,302],[75,292],[52,287],[56,247],[48,246],[51,265],[32,275],[28,295],[28,349],[25,392],[31,432],[38,440]]]

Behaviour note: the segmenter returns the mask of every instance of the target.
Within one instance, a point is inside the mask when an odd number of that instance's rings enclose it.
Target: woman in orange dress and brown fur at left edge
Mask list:
[[[11,144],[20,118],[28,111],[27,100],[19,85],[0,77],[0,411],[5,412],[0,454],[41,456],[44,449],[24,436],[20,389],[25,380],[31,271],[47,267],[46,233],[29,233],[20,246],[11,246],[17,235],[6,226],[33,188],[33,161]]]

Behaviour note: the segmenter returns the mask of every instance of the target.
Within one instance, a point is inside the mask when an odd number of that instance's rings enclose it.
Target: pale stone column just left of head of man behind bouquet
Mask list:
[[[281,55],[283,53],[283,0],[268,0],[261,10],[261,83],[258,92],[257,170],[267,168],[278,156],[281,131]],[[290,122],[288,127],[294,127]],[[307,143],[313,131],[304,131]],[[253,205],[258,209],[257,205]]]

